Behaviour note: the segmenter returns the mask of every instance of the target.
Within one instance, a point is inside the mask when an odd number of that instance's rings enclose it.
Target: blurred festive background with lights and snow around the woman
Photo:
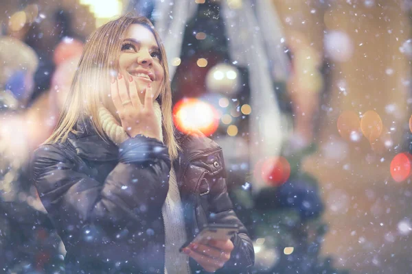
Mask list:
[[[128,12],[161,34],[176,127],[224,151],[252,273],[412,273],[411,1],[0,5],[6,273],[64,273],[28,159],[56,125],[87,36]]]

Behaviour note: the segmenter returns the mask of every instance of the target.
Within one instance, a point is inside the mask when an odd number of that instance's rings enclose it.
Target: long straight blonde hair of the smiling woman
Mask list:
[[[174,136],[172,90],[170,88],[168,60],[166,59],[165,48],[161,43],[159,34],[148,18],[144,16],[122,16],[96,29],[89,36],[84,45],[78,70],[73,77],[71,89],[60,113],[56,128],[45,143],[65,142],[69,132],[77,134],[73,130],[77,121],[88,118],[91,118],[92,125],[98,135],[106,142],[109,141],[98,119],[98,107],[100,103],[107,106],[108,100],[111,100],[107,96],[110,94],[110,77],[111,75],[117,75],[115,72],[119,69],[119,53],[122,47],[122,38],[131,24],[140,24],[148,27],[159,45],[162,57],[161,65],[164,71],[161,92],[158,98],[163,116],[163,141],[168,147],[171,160],[177,158],[181,148]]]

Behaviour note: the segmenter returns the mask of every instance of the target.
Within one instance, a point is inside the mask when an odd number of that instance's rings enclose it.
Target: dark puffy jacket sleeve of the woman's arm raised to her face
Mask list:
[[[161,216],[169,187],[167,148],[137,136],[123,142],[119,151],[119,162],[103,184],[82,172],[78,155],[60,145],[43,145],[34,152],[32,178],[67,251],[112,249],[111,257],[122,258],[127,252],[115,255],[115,240],[146,232]]]

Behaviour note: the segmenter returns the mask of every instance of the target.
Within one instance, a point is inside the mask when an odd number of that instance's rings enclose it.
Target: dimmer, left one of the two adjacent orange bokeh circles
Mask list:
[[[336,125],[339,134],[345,140],[356,141],[357,136],[361,137],[361,119],[354,111],[345,110],[342,112]]]

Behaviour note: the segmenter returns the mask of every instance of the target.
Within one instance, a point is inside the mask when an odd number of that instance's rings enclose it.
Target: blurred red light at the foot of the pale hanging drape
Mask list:
[[[280,186],[289,179],[290,164],[284,157],[260,160],[255,165],[254,175],[256,179],[263,180],[266,184]]]

